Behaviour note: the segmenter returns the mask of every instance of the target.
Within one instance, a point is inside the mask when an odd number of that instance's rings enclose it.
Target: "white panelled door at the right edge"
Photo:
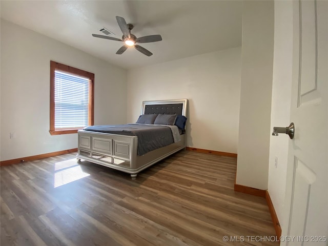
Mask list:
[[[328,1],[294,2],[295,138],[289,144],[282,229],[291,238],[282,238],[281,245],[328,245],[327,16]]]

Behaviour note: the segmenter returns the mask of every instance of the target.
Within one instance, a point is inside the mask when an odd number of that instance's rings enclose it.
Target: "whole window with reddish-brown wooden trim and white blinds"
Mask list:
[[[50,134],[93,125],[94,74],[50,61]]]

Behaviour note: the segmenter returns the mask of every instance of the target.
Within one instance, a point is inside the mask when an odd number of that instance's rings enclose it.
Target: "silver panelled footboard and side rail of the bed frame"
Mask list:
[[[136,136],[79,130],[77,158],[129,173],[135,178],[138,172],[186,148],[186,137],[181,135],[181,141],[142,156],[137,155],[137,145]]]

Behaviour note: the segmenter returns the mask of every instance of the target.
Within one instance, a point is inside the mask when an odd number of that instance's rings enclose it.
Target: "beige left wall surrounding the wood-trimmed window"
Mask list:
[[[49,133],[50,60],[95,74],[96,125],[126,123],[126,70],[2,19],[1,160],[77,148],[77,134]]]

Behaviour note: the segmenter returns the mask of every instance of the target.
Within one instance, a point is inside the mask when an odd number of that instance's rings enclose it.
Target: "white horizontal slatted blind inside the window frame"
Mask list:
[[[55,70],[55,129],[89,125],[89,78]]]

